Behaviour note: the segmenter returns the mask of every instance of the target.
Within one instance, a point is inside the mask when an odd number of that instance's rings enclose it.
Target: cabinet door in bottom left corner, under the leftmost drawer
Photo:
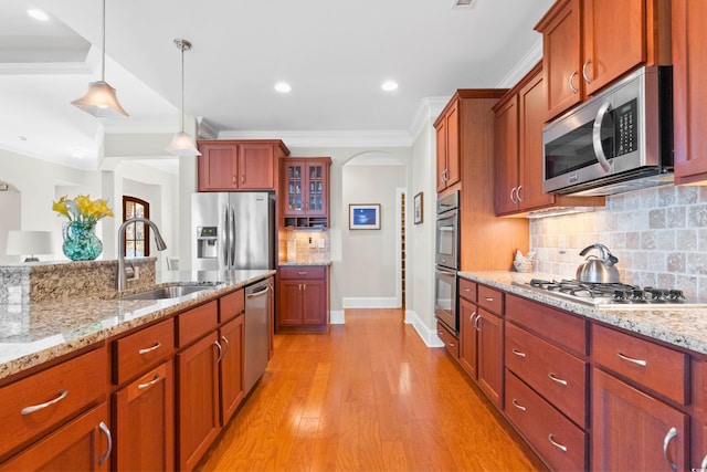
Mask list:
[[[0,464],[2,471],[107,471],[112,438],[102,403]]]

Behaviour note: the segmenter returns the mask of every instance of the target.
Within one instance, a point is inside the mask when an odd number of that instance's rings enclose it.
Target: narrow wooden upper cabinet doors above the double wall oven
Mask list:
[[[437,192],[460,181],[460,93],[457,92],[434,122],[436,130]]]

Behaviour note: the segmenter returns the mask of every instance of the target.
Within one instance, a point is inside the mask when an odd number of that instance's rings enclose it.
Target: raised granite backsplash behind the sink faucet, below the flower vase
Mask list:
[[[139,277],[128,290],[155,285],[155,258],[130,259]],[[108,296],[116,291],[118,262],[42,262],[0,266],[0,304],[56,302]]]

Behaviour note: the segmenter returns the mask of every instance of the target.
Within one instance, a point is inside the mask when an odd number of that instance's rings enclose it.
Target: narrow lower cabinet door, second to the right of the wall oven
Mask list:
[[[478,326],[478,386],[499,408],[503,405],[504,322],[485,310],[479,310]]]

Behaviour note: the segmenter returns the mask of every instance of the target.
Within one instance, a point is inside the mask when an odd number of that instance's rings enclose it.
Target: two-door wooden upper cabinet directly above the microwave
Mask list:
[[[639,64],[671,62],[669,0],[558,0],[542,33],[546,119]]]

